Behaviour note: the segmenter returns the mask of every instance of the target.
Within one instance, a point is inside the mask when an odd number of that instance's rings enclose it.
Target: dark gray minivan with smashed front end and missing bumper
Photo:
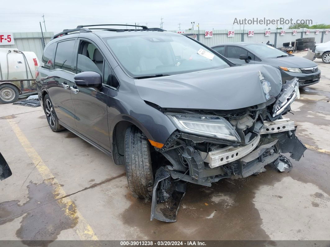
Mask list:
[[[66,29],[45,47],[36,81],[50,129],[125,165],[133,196],[152,198],[151,220],[176,221],[187,182],[284,171],[283,153],[299,160],[306,149],[285,115],[297,78],[282,84],[271,66],[237,66],[159,28]]]

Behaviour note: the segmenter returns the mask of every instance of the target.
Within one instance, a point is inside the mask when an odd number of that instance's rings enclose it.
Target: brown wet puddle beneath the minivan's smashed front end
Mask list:
[[[288,173],[266,169],[257,176],[223,179],[212,187],[188,183],[174,223],[150,221],[151,202],[135,199],[128,193],[126,198],[131,205],[121,214],[123,223],[139,229],[137,239],[144,236],[157,240],[269,240],[253,203],[255,190],[281,181]]]

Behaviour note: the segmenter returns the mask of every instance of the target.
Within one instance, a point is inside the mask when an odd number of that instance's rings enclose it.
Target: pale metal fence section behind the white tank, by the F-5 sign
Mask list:
[[[41,59],[44,51],[41,32],[13,33],[15,45],[0,46],[0,48],[17,48],[20,51],[33,51]],[[54,32],[44,32],[45,44],[54,36]]]

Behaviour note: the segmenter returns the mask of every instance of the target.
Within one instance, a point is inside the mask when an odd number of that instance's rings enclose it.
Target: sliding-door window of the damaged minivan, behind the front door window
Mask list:
[[[73,72],[72,54],[75,40],[63,41],[57,44],[54,69],[62,69]]]

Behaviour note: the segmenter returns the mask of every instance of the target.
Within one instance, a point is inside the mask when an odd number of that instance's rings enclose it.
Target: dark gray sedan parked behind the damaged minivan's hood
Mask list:
[[[299,87],[310,86],[320,81],[321,71],[316,63],[273,46],[255,42],[235,42],[212,48],[235,64],[271,65],[280,70],[283,82],[297,77]]]

